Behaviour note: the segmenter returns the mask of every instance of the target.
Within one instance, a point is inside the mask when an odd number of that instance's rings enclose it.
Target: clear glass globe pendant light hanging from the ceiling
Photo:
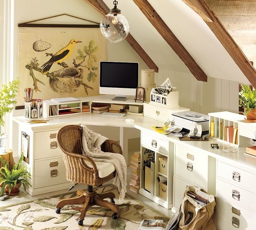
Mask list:
[[[114,8],[102,18],[100,30],[106,40],[119,42],[129,34],[129,22],[121,15],[121,10],[117,8],[118,2],[114,0],[113,4]]]

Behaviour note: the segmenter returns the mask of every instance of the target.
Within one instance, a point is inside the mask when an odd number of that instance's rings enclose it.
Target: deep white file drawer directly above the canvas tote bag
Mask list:
[[[207,188],[208,156],[176,145],[175,174],[200,187]]]

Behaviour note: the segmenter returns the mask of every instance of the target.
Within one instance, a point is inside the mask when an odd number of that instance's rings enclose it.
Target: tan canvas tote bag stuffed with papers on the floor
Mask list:
[[[205,199],[208,203],[199,204],[187,195],[191,191]],[[182,230],[214,230],[216,228],[216,201],[213,195],[203,192],[203,189],[194,186],[187,186],[181,204],[181,217],[179,229]]]

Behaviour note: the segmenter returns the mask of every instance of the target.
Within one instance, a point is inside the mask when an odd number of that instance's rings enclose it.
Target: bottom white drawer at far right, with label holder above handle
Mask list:
[[[254,230],[256,213],[218,197],[217,219],[218,230]]]

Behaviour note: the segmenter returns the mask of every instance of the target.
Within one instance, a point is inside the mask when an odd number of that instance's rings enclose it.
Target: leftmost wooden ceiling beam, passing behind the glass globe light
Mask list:
[[[102,15],[106,15],[110,12],[110,8],[102,0],[84,0],[94,9],[96,9]],[[158,73],[158,67],[154,61],[147,55],[147,53],[142,49],[140,44],[134,39],[134,37],[129,33],[125,40],[131,45],[135,52],[141,57],[141,59],[146,63],[146,65]]]

